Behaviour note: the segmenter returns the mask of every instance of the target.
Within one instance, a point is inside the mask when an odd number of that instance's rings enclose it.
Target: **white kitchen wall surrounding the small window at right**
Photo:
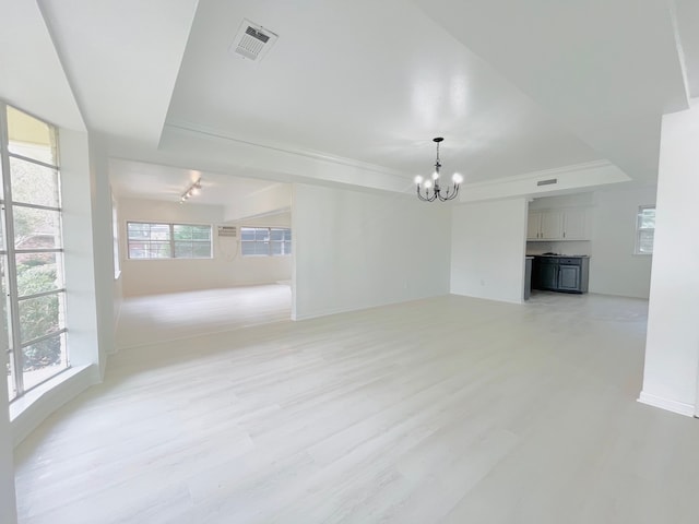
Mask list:
[[[639,205],[655,204],[655,188],[595,192],[590,293],[648,298],[653,257],[633,254]]]

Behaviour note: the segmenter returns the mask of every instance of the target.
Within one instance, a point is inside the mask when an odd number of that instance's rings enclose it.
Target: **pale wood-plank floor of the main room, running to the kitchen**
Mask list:
[[[645,313],[450,296],[120,352],[17,449],[20,522],[696,524]]]

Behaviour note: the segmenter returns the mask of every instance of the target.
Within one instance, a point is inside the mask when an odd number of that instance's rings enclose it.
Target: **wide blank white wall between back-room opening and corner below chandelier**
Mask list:
[[[449,293],[450,206],[293,188],[294,318]]]

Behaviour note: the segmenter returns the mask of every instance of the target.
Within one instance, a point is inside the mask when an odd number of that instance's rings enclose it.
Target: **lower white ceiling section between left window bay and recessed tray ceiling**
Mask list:
[[[40,0],[91,129],[156,146],[197,0]]]

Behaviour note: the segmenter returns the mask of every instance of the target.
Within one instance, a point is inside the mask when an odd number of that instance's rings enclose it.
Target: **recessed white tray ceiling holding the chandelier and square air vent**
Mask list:
[[[244,17],[280,35],[260,63],[228,52]],[[430,169],[434,136],[470,180],[599,158],[401,0],[200,3],[168,122],[411,178]]]

